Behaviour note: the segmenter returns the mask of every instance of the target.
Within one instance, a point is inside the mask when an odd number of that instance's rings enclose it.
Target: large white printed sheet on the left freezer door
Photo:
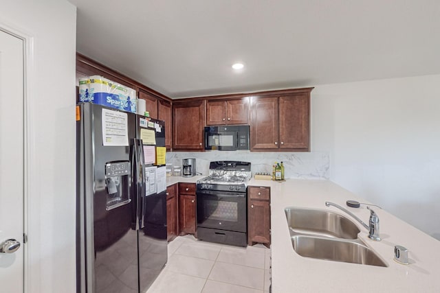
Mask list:
[[[128,116],[124,112],[102,109],[102,145],[129,145]]]

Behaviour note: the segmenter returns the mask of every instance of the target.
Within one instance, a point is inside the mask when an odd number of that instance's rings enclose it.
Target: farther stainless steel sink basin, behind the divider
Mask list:
[[[343,239],[357,239],[360,230],[348,218],[325,209],[289,207],[285,209],[291,235],[318,235]]]

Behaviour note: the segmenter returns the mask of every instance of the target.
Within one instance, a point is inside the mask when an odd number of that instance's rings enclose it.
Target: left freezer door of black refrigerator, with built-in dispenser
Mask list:
[[[78,273],[85,284],[85,292],[138,292],[133,282],[133,271],[137,279],[137,233],[132,229],[135,218],[132,174],[116,174],[122,167],[131,164],[130,146],[105,145],[103,131],[109,120],[103,117],[110,113],[118,117],[118,110],[96,104],[80,104],[81,119],[78,121]],[[113,113],[115,112],[115,113]],[[125,115],[122,115],[125,116]],[[108,118],[108,117],[107,117]],[[127,114],[122,131],[129,139],[136,137],[136,116]],[[126,126],[125,126],[126,125]],[[112,140],[114,142],[114,140]],[[106,166],[114,163],[113,174],[107,174]],[[110,169],[112,165],[110,165]],[[121,168],[118,170],[118,167]],[[117,179],[119,177],[119,179]],[[107,178],[112,178],[107,180]],[[128,178],[122,183],[120,178]],[[106,185],[108,181],[111,183]],[[120,189],[118,189],[120,188]],[[113,191],[120,190],[116,193]],[[128,195],[124,195],[129,193]],[[109,199],[118,201],[108,209]],[[125,198],[125,200],[124,200]],[[117,207],[116,207],[117,205]],[[82,272],[85,272],[84,274]]]

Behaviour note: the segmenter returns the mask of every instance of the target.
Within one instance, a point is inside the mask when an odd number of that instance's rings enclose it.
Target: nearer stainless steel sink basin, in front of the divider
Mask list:
[[[359,242],[354,242],[342,239],[296,235],[292,236],[292,246],[294,246],[296,253],[303,257],[388,267],[373,250],[361,244],[360,240]]]

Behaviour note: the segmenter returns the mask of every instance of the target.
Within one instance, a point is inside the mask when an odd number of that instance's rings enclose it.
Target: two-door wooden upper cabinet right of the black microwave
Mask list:
[[[310,91],[256,96],[250,106],[250,148],[254,151],[309,152]]]

